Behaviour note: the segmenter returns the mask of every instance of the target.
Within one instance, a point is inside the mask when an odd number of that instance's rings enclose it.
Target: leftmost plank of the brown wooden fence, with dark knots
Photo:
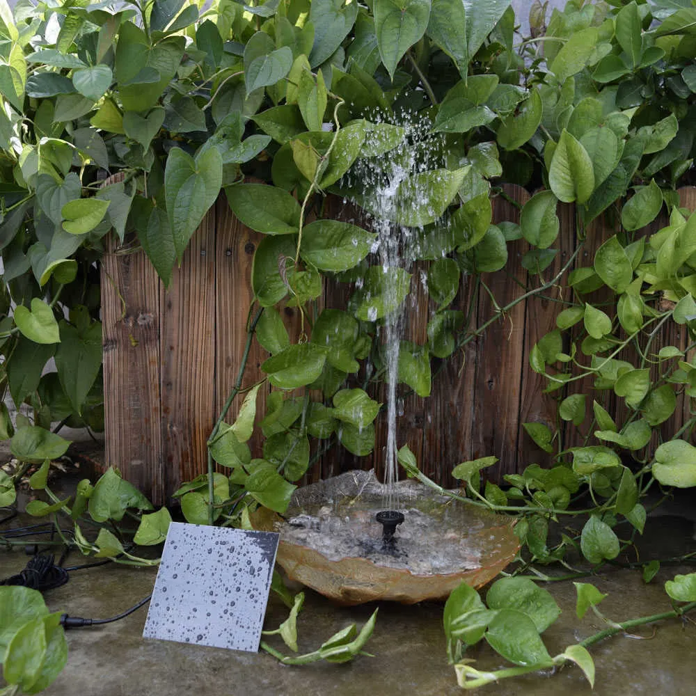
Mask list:
[[[161,446],[161,283],[143,251],[118,253],[110,235],[102,260],[106,466],[153,501],[166,482]]]

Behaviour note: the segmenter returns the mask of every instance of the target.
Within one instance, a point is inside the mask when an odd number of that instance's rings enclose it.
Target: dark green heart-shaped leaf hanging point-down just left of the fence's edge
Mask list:
[[[102,367],[102,324],[94,322],[84,333],[61,321],[61,344],[56,351],[61,386],[73,409],[81,414],[87,395]]]

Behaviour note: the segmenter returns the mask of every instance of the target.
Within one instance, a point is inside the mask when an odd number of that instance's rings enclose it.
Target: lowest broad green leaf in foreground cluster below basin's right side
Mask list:
[[[538,665],[539,669],[553,665],[534,622],[522,612],[499,610],[484,638],[493,650],[515,665]]]

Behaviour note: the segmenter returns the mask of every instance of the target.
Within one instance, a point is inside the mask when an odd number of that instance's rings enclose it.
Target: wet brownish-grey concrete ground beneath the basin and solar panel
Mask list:
[[[35,520],[19,517],[8,526]],[[667,515],[650,519],[640,543],[640,560],[671,557],[696,551],[693,521]],[[27,557],[22,549],[0,549],[0,576],[21,570]],[[630,559],[635,560],[635,554]],[[82,562],[79,554],[66,565]],[[592,582],[608,597],[601,610],[610,619],[624,621],[671,609],[663,590],[665,580],[696,571],[696,565],[663,567],[649,584],[640,571],[608,569]],[[557,571],[555,571],[557,572]],[[52,610],[72,616],[104,618],[116,615],[152,591],[156,569],[111,564],[74,571],[70,582],[47,592]],[[575,589],[571,582],[541,583],[562,609],[560,619],[544,633],[551,655],[603,628],[588,612],[582,621],[575,615]],[[299,649],[308,652],[347,624],[361,625],[375,605],[337,608],[308,591],[299,617]],[[445,657],[442,606],[379,605],[377,627],[367,650],[374,657],[359,656],[353,663],[315,663],[301,667],[280,665],[264,654],[249,654],[187,644],[144,640],[145,608],[114,624],[68,631],[68,665],[47,696],[448,696],[462,693],[454,670]],[[271,596],[266,628],[277,628],[287,610]],[[693,617],[696,619],[696,616]],[[644,638],[617,635],[591,648],[596,664],[594,692],[576,667],[556,674],[550,671],[506,679],[480,688],[477,693],[496,696],[665,695],[696,694],[696,623],[672,619],[642,626]],[[653,635],[654,634],[654,635]],[[277,636],[269,639],[280,651],[289,652]],[[484,642],[468,651],[475,667],[492,670],[511,666]]]

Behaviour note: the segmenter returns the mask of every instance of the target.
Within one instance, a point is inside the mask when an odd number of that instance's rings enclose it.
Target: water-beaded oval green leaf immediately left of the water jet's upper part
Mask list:
[[[302,230],[301,257],[320,271],[347,271],[361,262],[377,235],[338,220],[317,220]]]

